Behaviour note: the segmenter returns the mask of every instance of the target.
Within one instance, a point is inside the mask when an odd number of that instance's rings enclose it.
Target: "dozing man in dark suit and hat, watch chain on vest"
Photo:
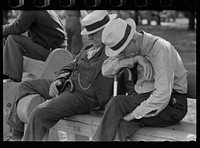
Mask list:
[[[116,14],[108,15],[103,10],[88,14],[82,20],[85,28],[81,35],[87,35],[93,44],[83,48],[70,64],[60,70],[55,80],[36,79],[19,85],[16,105],[13,105],[8,118],[8,124],[14,128],[13,136],[17,135],[18,139],[23,136],[23,141],[42,140],[60,119],[88,114],[91,109],[100,109],[108,102],[112,96],[113,79],[104,77],[101,72],[102,64],[108,58],[101,35],[105,25],[115,18]],[[16,113],[17,102],[30,94],[40,94],[48,101],[38,105],[31,113],[23,135],[23,123]]]

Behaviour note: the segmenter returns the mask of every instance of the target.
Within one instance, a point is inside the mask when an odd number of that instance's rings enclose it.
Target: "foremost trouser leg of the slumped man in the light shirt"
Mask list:
[[[126,121],[123,121],[123,117],[133,110],[133,105],[138,106],[141,103],[141,100],[146,98],[147,95],[144,95],[140,99],[135,99],[135,101],[132,101],[134,99],[133,97],[125,95],[119,95],[112,98],[106,105],[104,115],[93,140],[112,141],[114,140],[118,128],[120,128],[118,133],[126,135],[126,133],[122,133],[122,125],[127,124]],[[119,124],[121,121],[123,121],[123,123]],[[139,124],[137,124],[137,127],[138,126]]]

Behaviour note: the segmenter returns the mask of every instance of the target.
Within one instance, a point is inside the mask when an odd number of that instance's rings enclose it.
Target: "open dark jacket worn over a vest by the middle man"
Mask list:
[[[64,66],[59,71],[56,79],[60,79],[62,82],[64,82],[66,79],[69,78],[68,76],[67,77],[65,76],[66,73],[68,72],[72,73],[74,70],[81,69],[82,62],[84,62],[83,59],[86,57],[86,50],[90,47],[91,46],[83,48],[70,64]],[[99,60],[98,66],[96,67],[96,72],[94,76],[95,92],[96,92],[100,107],[104,106],[113,95],[113,78],[106,78],[102,75],[102,72],[101,72],[102,64],[104,60],[108,58],[105,55],[105,46],[102,47],[101,50],[102,52],[100,55],[100,60]]]

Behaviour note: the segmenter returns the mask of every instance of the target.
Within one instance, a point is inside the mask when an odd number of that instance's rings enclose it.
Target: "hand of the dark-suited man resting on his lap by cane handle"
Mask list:
[[[58,88],[61,86],[62,82],[60,80],[56,80],[53,83],[51,83],[50,88],[49,88],[49,95],[51,97],[57,97],[59,94]]]

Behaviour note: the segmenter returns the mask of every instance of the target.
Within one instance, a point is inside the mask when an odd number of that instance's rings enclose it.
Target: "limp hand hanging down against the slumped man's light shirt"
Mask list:
[[[153,77],[153,68],[151,63],[143,56],[135,56],[134,58],[137,58],[138,63],[143,66],[145,80],[151,80]]]

